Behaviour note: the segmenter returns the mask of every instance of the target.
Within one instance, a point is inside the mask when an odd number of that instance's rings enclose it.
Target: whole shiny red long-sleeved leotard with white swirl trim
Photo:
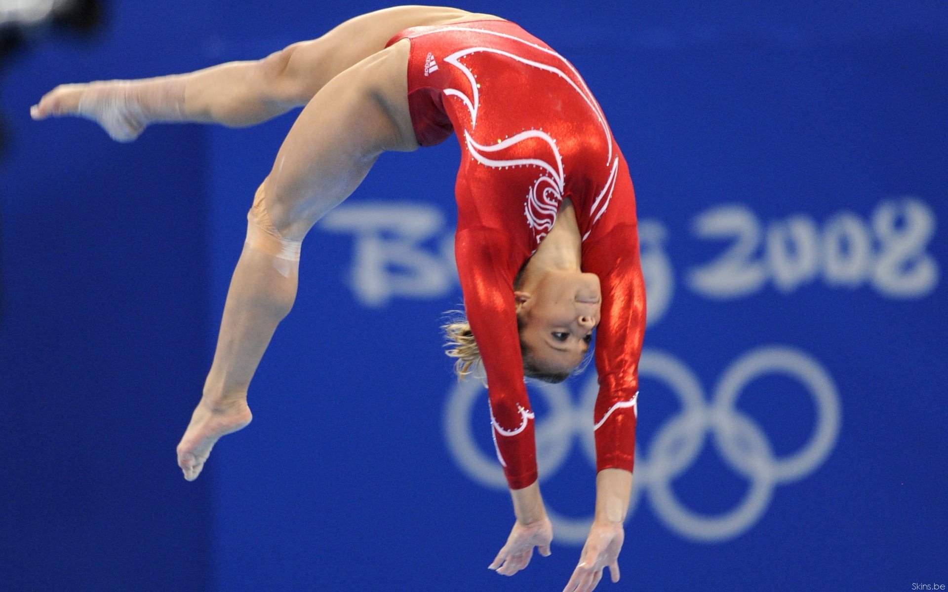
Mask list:
[[[632,470],[646,326],[635,195],[598,103],[573,65],[508,21],[412,27],[409,106],[422,146],[461,143],[455,256],[487,374],[498,457],[512,489],[537,479],[514,278],[572,200],[582,268],[599,277],[597,470]]]

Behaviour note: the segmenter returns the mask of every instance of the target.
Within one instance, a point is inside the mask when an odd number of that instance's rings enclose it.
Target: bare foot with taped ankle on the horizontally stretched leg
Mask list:
[[[141,135],[148,118],[136,100],[129,99],[126,81],[61,84],[29,109],[30,117],[77,116],[92,119],[118,142]]]

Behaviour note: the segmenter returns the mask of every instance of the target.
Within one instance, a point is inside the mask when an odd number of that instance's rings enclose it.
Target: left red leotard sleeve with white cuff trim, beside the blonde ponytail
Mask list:
[[[511,489],[537,480],[534,414],[523,383],[509,237],[497,229],[459,229],[455,259],[465,312],[487,374],[492,435]]]

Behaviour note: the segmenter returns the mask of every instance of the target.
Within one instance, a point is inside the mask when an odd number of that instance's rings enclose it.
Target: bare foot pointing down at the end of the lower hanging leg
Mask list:
[[[217,440],[244,429],[252,419],[250,407],[244,399],[219,405],[211,405],[202,399],[177,447],[178,466],[184,472],[184,478],[189,481],[196,479]]]

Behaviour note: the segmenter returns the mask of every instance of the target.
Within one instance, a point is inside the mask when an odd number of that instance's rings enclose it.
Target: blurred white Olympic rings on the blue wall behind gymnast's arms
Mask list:
[[[799,450],[783,457],[775,455],[760,425],[736,406],[746,386],[772,374],[787,376],[803,386],[816,410],[810,439]],[[720,542],[750,529],[767,510],[776,486],[802,479],[815,471],[830,455],[839,435],[840,403],[836,386],[829,372],[801,350],[764,346],[748,351],[724,370],[710,403],[706,402],[702,386],[690,368],[668,353],[643,350],[639,376],[668,386],[678,397],[682,410],[658,427],[647,446],[647,456],[636,452],[629,516],[647,492],[652,509],[665,525],[687,539]],[[541,396],[548,407],[536,425],[541,481],[556,474],[572,451],[574,439],[579,440],[585,456],[595,465],[593,406],[597,392],[594,374],[583,386],[578,406],[574,406],[570,391],[564,385],[544,384],[534,390],[532,396]],[[476,381],[460,383],[451,389],[444,422],[447,446],[471,479],[487,488],[506,490],[496,457],[477,445],[470,430],[474,403],[484,395],[483,386]],[[734,509],[718,515],[690,510],[671,486],[675,478],[693,465],[709,435],[724,462],[751,484]],[[558,540],[583,544],[592,517],[573,519],[549,508],[548,511]]]

